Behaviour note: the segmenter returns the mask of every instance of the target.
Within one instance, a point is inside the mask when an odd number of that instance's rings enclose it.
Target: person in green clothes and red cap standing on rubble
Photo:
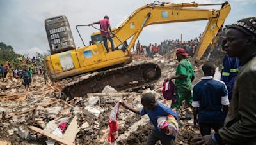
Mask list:
[[[167,80],[175,79],[176,98],[177,102],[172,104],[172,108],[179,109],[182,101],[185,99],[188,106],[192,107],[192,81],[195,78],[193,67],[187,59],[188,53],[183,48],[178,48],[177,60],[179,64],[176,68],[175,76],[168,76]]]

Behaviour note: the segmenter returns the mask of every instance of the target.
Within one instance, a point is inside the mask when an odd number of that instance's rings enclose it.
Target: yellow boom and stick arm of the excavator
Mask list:
[[[216,4],[147,4],[146,6],[134,11],[132,15],[116,29],[116,37],[113,39],[116,42],[116,45],[119,46],[122,42],[132,37],[125,52],[127,55],[127,53],[131,51],[132,46],[134,45],[141,31],[147,25],[209,20],[202,35],[200,46],[195,53],[194,59],[198,61],[201,59],[212,39],[218,34],[220,28],[225,22],[225,19],[227,18],[228,13],[230,12],[230,4],[228,4],[228,2],[221,4],[222,6],[220,10],[196,8],[198,6],[205,5]]]

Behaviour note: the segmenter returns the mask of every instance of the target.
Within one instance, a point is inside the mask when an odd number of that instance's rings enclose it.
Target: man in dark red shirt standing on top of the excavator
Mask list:
[[[103,20],[100,20],[98,22],[94,22],[94,23],[89,24],[89,25],[93,25],[93,24],[100,24],[100,32],[101,32],[101,36],[103,38],[103,43],[104,43],[104,46],[105,46],[107,52],[109,52],[107,40],[109,40],[110,43],[111,43],[111,50],[115,51],[115,49],[114,49],[115,46],[114,46],[114,43],[113,43],[113,39],[110,36],[110,34],[113,34],[113,33],[111,31],[109,17],[104,16]],[[108,31],[108,29],[109,29],[109,31]]]

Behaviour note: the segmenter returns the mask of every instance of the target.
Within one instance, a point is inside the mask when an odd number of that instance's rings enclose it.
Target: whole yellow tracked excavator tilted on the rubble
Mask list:
[[[215,5],[220,5],[220,10],[198,8]],[[115,51],[108,53],[103,43],[99,43],[100,34],[92,35],[90,46],[84,45],[83,48],[76,48],[67,18],[65,16],[49,18],[45,20],[45,29],[52,54],[46,57],[49,78],[51,81],[59,81],[90,72],[91,75],[81,76],[76,82],[63,88],[63,95],[70,98],[100,92],[106,85],[113,86],[120,91],[152,84],[161,76],[161,69],[157,64],[152,62],[129,64],[132,62],[132,46],[144,27],[152,24],[208,20],[200,39],[200,45],[193,57],[198,61],[209,44],[214,44],[218,39],[218,32],[221,31],[229,12],[228,2],[173,4],[155,1],[135,10],[114,30]],[[81,25],[77,25],[79,26]],[[131,39],[129,43],[127,43],[128,39]]]

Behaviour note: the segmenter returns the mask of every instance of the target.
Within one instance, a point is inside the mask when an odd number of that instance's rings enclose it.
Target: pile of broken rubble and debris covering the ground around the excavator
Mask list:
[[[138,57],[134,63],[141,59],[148,58]],[[67,80],[45,84],[42,76],[35,75],[29,90],[20,80],[1,82],[0,144],[107,144],[109,114],[118,101],[125,100],[132,107],[142,108],[141,95],[154,93],[157,101],[170,106],[164,102],[161,89],[168,74],[175,74],[175,55],[156,55],[153,61],[161,67],[162,76],[151,88],[117,92],[106,86],[100,93],[67,101],[61,99],[61,88]],[[183,106],[181,112],[176,143],[189,144],[199,131],[193,128],[191,110]],[[147,115],[134,114],[122,106],[118,111],[118,125],[116,144],[143,144],[153,128]]]

